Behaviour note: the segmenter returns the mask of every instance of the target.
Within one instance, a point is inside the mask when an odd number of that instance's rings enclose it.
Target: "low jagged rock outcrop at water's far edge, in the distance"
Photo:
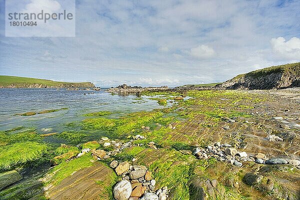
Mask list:
[[[167,89],[168,89],[167,86],[141,87],[141,86],[129,86],[126,84],[122,84],[117,87],[111,87],[107,89],[107,91],[110,93],[141,93],[142,91],[164,91]]]

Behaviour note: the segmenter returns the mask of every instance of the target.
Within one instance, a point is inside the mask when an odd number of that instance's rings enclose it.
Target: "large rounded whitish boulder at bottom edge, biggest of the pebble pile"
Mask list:
[[[119,181],[113,188],[113,196],[116,200],[127,200],[131,192],[132,187],[128,180]]]

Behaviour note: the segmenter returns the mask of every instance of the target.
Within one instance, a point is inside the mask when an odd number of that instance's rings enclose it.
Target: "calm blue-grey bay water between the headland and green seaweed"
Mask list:
[[[26,126],[37,128],[40,133],[60,132],[63,131],[63,124],[86,118],[83,116],[84,113],[109,110],[115,112],[115,116],[119,116],[123,113],[163,107],[158,105],[156,100],[149,98],[150,96],[111,95],[106,91],[93,90],[2,88],[0,89],[0,130]],[[15,115],[63,107],[68,109],[32,116]]]

